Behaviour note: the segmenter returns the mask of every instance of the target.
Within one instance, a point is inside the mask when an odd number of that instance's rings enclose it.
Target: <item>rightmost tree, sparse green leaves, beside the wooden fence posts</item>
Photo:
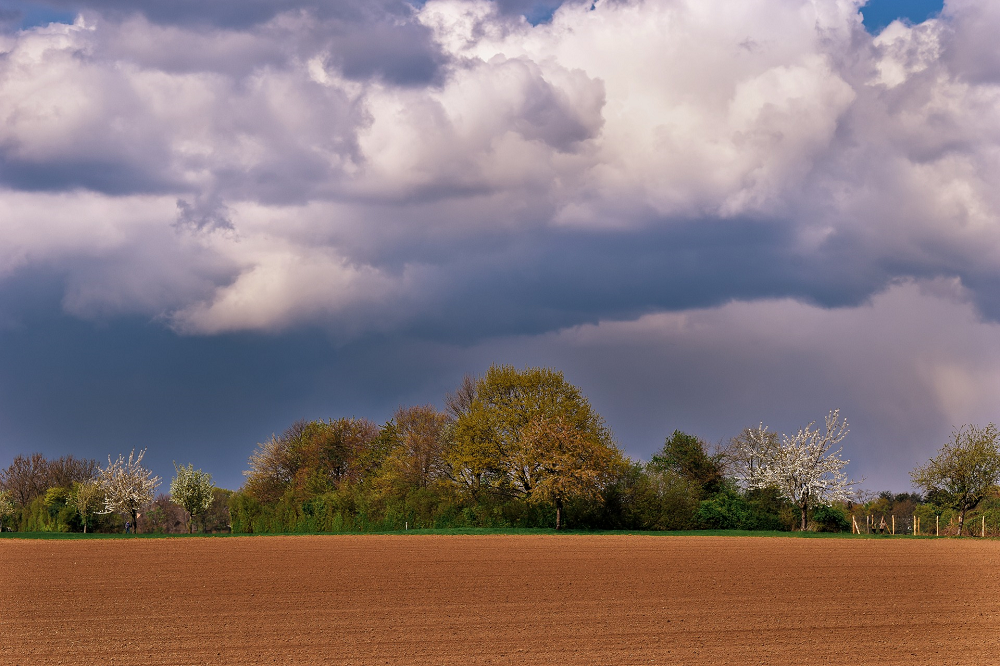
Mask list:
[[[932,497],[958,511],[958,535],[965,513],[997,486],[1000,479],[1000,432],[992,423],[984,428],[966,425],[955,430],[951,441],[926,465],[910,472],[913,483]]]

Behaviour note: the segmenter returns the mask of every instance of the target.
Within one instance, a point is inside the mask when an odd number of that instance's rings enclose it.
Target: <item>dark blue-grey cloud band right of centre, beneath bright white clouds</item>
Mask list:
[[[795,257],[794,245],[787,223],[754,220],[526,234],[502,248],[457,252],[440,309],[418,315],[413,331],[468,342],[731,300],[843,307],[864,302],[901,269],[880,267],[846,242],[831,242],[808,261]]]

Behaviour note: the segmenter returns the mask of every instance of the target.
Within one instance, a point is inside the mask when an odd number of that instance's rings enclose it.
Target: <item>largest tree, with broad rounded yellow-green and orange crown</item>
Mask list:
[[[466,379],[448,408],[455,416],[444,460],[473,495],[485,491],[563,500],[600,488],[604,465],[624,464],[611,431],[580,390],[549,368],[494,365]],[[589,492],[589,490],[588,490]]]

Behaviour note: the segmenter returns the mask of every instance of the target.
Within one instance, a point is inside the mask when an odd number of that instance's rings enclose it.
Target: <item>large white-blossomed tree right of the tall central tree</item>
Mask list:
[[[850,460],[840,457],[843,449],[831,451],[847,436],[847,420],[840,420],[840,410],[827,414],[826,430],[813,429],[815,421],[789,437],[782,435],[775,446],[767,426],[749,430],[743,439],[743,455],[750,461],[742,470],[748,488],[777,488],[802,511],[802,529],[811,505],[853,496],[852,481],[844,474]]]

